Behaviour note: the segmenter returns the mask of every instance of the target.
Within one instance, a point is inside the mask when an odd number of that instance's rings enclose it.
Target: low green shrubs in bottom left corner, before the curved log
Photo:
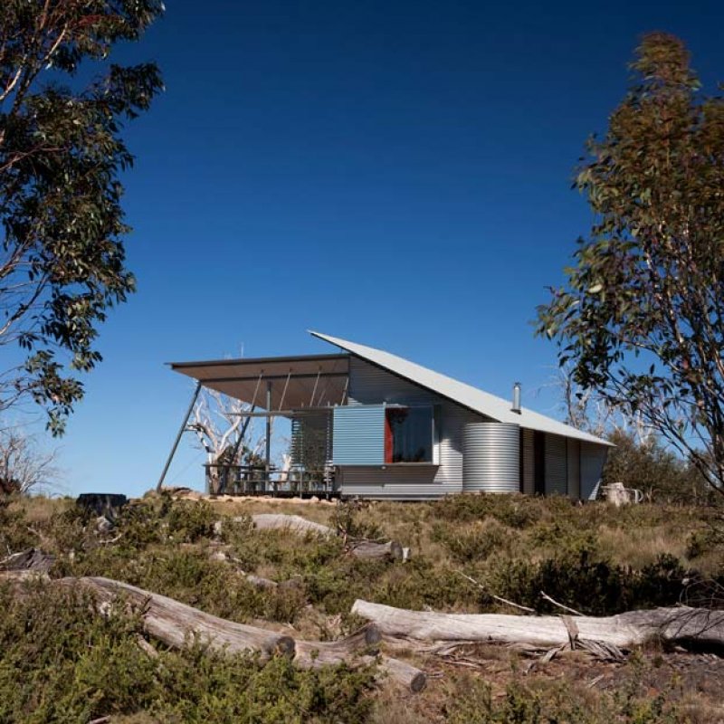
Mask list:
[[[141,622],[94,613],[88,595],[33,584],[0,588],[0,721],[85,722],[147,712],[182,722],[348,722],[370,715],[374,672],[347,667],[300,671],[284,657],[262,666],[195,643],[149,657]]]

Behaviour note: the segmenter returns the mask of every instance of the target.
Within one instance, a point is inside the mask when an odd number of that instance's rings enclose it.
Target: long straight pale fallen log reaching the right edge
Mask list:
[[[374,622],[383,633],[423,641],[524,643],[540,649],[575,646],[570,626],[560,616],[439,614],[408,611],[358,599],[352,613]],[[652,639],[720,650],[724,647],[724,611],[703,608],[655,608],[613,616],[567,616],[576,624],[576,641],[631,649]],[[584,645],[583,648],[586,648]]]

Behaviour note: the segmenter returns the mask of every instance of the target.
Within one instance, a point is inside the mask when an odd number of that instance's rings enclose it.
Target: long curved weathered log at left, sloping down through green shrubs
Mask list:
[[[119,598],[138,606],[143,614],[146,632],[174,648],[183,647],[189,635],[196,635],[211,649],[225,649],[229,653],[257,651],[261,653],[262,659],[269,658],[273,653],[287,656],[295,653],[291,636],[226,621],[166,595],[152,594],[110,578],[62,578],[57,583],[90,590],[99,601],[101,612],[108,611],[110,605]]]

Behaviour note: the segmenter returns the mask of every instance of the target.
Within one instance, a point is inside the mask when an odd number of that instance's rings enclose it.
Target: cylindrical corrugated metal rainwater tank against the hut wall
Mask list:
[[[520,426],[468,423],[462,434],[462,491],[520,490]]]

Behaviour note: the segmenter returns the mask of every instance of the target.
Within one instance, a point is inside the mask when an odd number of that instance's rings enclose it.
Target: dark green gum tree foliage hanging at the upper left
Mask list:
[[[32,398],[53,433],[83,394],[77,373],[100,361],[99,323],[134,289],[120,132],[161,79],[154,63],[108,58],[162,12],[160,0],[0,4],[0,346],[24,350],[0,370],[0,409]]]

